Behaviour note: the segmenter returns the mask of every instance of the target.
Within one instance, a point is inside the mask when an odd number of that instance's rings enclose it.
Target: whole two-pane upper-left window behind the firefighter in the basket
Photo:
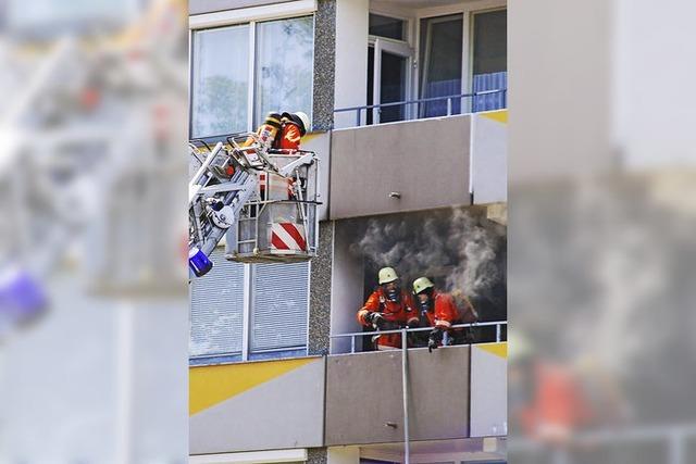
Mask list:
[[[270,111],[311,115],[313,40],[313,16],[194,32],[191,137],[251,130]]]

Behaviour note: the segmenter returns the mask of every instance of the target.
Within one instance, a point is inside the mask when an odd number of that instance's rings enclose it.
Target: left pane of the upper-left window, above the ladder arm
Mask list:
[[[247,130],[249,26],[194,34],[191,136]]]

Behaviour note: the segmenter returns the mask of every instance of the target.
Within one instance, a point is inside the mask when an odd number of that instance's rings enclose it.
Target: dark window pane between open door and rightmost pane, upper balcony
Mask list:
[[[461,93],[462,15],[421,21],[421,98]],[[451,113],[461,112],[461,101],[452,100]],[[421,105],[420,117],[447,114],[447,101]]]

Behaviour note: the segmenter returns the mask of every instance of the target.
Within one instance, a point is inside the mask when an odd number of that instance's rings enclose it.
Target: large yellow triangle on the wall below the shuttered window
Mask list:
[[[320,358],[302,358],[190,367],[188,369],[188,413],[194,415],[228,398],[320,360]]]

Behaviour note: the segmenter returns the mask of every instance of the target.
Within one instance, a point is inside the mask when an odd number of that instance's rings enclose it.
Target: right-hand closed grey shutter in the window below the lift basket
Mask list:
[[[309,263],[257,264],[251,352],[307,346]]]

